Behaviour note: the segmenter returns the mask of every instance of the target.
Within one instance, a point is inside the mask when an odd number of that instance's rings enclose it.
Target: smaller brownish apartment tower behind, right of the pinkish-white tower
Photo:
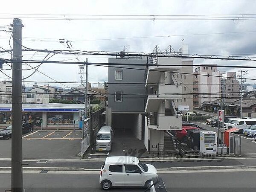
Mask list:
[[[239,81],[236,80],[236,72],[227,72],[227,78],[222,79],[221,93],[227,98],[238,98],[240,92]]]

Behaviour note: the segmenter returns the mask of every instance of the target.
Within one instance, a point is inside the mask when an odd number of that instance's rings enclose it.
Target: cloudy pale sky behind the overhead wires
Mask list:
[[[15,6],[13,6],[15,5]],[[12,8],[12,9],[10,9]],[[61,0],[35,1],[13,0],[1,2],[1,13],[8,14],[88,14],[88,15],[170,15],[170,14],[254,14],[255,0]],[[12,18],[3,19],[0,26],[12,23]],[[73,49],[87,51],[152,52],[158,45],[160,50],[172,45],[177,51],[188,45],[189,54],[208,55],[249,55],[256,56],[256,20],[28,20],[22,19],[22,44],[33,49],[67,49],[58,39],[72,41]],[[0,29],[8,29],[1,28]],[[241,32],[223,34],[227,32]],[[192,35],[222,33],[215,35]],[[133,38],[170,35],[170,37]],[[179,36],[174,36],[179,35]],[[0,46],[10,49],[9,32],[0,30]],[[128,38],[117,40],[99,40]],[[32,41],[33,40],[33,41]],[[36,41],[35,41],[36,40]],[[12,41],[11,41],[12,46]],[[23,52],[23,59],[42,60],[46,54]],[[0,54],[0,58],[10,58],[10,54]],[[108,56],[55,55],[54,61],[108,62]],[[194,64],[251,65],[253,61],[224,61],[195,59]],[[33,65],[35,66],[35,64]],[[9,68],[4,64],[4,68]],[[26,64],[23,69],[29,68]],[[76,64],[43,64],[38,69],[57,81],[80,81],[79,67]],[[240,69],[219,69],[238,71]],[[12,76],[11,70],[3,70]],[[33,70],[23,71],[23,77]],[[256,78],[256,70],[249,70],[246,78]],[[0,80],[7,78],[0,73]],[[8,78],[7,78],[8,79]],[[36,72],[28,81],[52,81]],[[89,82],[108,81],[108,67],[88,67]],[[256,83],[247,81],[247,83]],[[32,86],[33,83],[26,83]],[[38,85],[42,85],[38,83]],[[49,84],[60,87],[73,87],[79,84]],[[95,85],[94,85],[95,86]]]

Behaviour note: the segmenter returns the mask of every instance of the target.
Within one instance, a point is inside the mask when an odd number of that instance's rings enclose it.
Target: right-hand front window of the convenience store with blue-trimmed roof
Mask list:
[[[48,125],[72,125],[74,124],[73,113],[48,113],[47,116]]]

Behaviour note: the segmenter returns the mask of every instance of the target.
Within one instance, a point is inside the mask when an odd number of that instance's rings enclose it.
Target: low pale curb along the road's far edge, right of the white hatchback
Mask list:
[[[170,167],[169,170],[209,170],[209,169],[246,169],[255,168],[249,166],[197,166],[197,167]]]

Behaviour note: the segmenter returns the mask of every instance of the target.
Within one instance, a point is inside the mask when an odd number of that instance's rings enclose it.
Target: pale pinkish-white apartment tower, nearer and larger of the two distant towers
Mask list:
[[[216,64],[195,68],[193,81],[193,105],[202,108],[204,102],[221,98],[221,71]]]

